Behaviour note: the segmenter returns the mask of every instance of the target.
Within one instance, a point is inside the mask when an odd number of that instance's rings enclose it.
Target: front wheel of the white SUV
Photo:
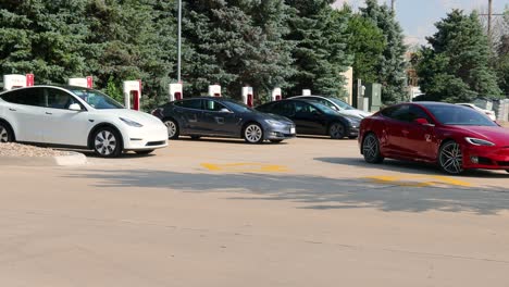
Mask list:
[[[123,150],[121,135],[116,129],[108,126],[94,133],[92,145],[94,151],[101,158],[117,158]]]

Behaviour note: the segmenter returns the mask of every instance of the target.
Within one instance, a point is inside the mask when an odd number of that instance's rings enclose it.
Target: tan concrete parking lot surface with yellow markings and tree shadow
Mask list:
[[[2,286],[507,286],[509,174],[356,140],[173,140],[0,173]]]

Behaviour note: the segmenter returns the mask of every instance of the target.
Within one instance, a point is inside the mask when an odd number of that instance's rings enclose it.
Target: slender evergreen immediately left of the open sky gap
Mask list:
[[[382,101],[395,103],[407,100],[405,74],[405,52],[402,29],[395,14],[386,5],[378,5],[376,0],[367,0],[367,7],[361,9],[363,17],[372,21],[384,34],[385,48],[377,65],[377,82],[382,84]]]

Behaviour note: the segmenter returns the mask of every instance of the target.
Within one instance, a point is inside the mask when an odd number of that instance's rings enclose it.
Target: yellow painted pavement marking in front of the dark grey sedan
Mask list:
[[[238,163],[202,163],[201,166],[211,172],[237,173],[286,173],[289,170],[284,165],[238,162]]]

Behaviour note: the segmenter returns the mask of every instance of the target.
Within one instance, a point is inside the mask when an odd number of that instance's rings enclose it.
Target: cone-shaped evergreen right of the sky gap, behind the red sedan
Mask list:
[[[420,86],[430,100],[461,102],[476,97],[498,98],[500,89],[488,65],[489,46],[477,14],[454,10],[435,24],[418,59]]]

